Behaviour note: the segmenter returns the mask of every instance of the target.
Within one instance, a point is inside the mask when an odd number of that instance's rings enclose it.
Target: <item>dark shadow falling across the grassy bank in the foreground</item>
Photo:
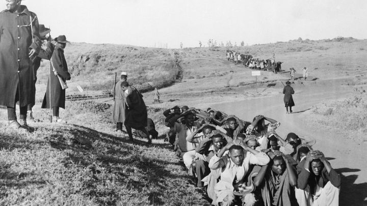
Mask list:
[[[124,185],[129,191],[140,191],[150,204],[170,204],[167,200],[185,196],[187,192],[180,184],[182,180],[189,182],[188,176],[175,171],[182,165],[169,161],[168,156],[168,161],[154,158],[157,152],[169,149],[170,145],[167,143],[148,144],[139,139],[132,143],[127,139],[78,125],[53,131],[48,141],[51,147],[67,151],[70,161],[65,161],[65,167],[75,167],[76,163],[88,169],[90,176],[82,180],[81,193],[95,198],[99,204],[117,204],[116,196],[119,195],[115,189],[111,191],[103,188],[106,180],[99,180],[101,178],[98,178],[98,174],[101,170],[108,171],[108,177],[104,178],[109,180],[112,175],[117,185]]]

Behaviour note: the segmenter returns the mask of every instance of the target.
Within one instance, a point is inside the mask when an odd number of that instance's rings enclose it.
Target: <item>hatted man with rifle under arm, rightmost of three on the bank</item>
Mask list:
[[[59,76],[62,81],[70,80],[70,73],[68,72],[64,49],[66,47],[65,35],[60,35],[55,38],[55,49],[50,60],[49,78],[47,81],[47,89],[43,98],[41,108],[53,109],[53,122],[66,123],[59,117],[59,108],[65,109],[65,89],[61,86]]]

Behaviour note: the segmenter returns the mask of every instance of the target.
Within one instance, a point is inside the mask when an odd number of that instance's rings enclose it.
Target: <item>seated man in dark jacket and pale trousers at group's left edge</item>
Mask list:
[[[185,124],[177,123],[176,120],[180,117],[185,117]],[[168,126],[171,128],[172,132],[177,133],[175,144],[177,146],[177,154],[179,154],[183,163],[187,167],[189,173],[191,173],[191,163],[195,158],[196,143],[191,143],[186,140],[186,137],[191,133],[195,132],[201,125],[195,121],[195,114],[191,110],[180,114],[179,116],[173,117],[168,121]],[[203,139],[204,137],[201,137]]]

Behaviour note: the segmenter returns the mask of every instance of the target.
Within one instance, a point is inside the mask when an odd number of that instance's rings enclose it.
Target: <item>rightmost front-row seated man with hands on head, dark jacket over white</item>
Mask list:
[[[297,165],[296,198],[300,206],[338,205],[340,176],[320,151],[310,151]]]

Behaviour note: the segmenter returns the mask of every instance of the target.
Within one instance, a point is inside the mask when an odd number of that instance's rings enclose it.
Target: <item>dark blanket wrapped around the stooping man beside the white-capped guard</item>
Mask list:
[[[125,125],[137,130],[144,129],[147,126],[148,113],[143,95],[134,86],[129,86],[125,101],[127,105]]]

